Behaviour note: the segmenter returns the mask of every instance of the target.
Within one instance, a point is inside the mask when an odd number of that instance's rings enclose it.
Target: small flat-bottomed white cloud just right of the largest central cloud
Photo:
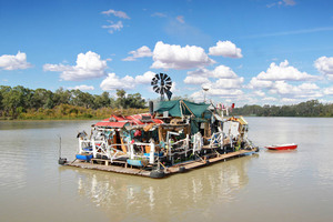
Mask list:
[[[231,41],[218,41],[215,47],[209,49],[211,56],[222,56],[229,58],[242,58],[242,50],[236,48]]]

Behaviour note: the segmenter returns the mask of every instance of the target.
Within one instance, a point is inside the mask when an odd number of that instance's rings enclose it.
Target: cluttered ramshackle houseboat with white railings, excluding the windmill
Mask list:
[[[80,132],[75,159],[59,163],[164,178],[259,150],[248,139],[244,118],[223,117],[219,105],[173,100],[152,107],[150,113],[112,114],[90,134]]]

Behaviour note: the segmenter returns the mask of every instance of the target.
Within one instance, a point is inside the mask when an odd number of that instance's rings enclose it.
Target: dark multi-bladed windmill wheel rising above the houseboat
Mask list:
[[[153,87],[153,91],[161,94],[161,101],[164,100],[164,94],[167,94],[170,100],[172,97],[172,92],[170,91],[172,87],[171,78],[165,73],[157,73],[155,77],[151,80],[151,85]]]

